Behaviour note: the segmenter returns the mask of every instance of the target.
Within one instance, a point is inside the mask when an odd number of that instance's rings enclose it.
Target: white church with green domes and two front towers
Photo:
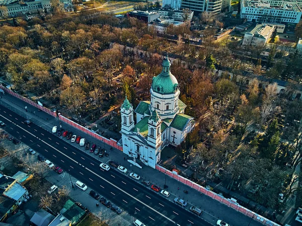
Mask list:
[[[141,101],[133,111],[127,98],[121,106],[123,152],[133,163],[140,160],[155,168],[163,148],[179,145],[195,126],[194,118],[185,115],[186,105],[179,100],[179,87],[165,58],[163,70],[152,80],[151,101]],[[133,114],[136,113],[136,123]]]

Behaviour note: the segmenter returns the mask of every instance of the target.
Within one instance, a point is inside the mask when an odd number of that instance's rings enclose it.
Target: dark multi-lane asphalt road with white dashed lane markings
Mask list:
[[[6,123],[3,128],[7,132],[147,226],[211,225],[159,193],[146,189],[128,176],[130,172],[123,174],[113,168],[109,171],[101,170],[101,161],[34,123],[25,124],[25,118],[4,106],[0,106],[0,120]]]

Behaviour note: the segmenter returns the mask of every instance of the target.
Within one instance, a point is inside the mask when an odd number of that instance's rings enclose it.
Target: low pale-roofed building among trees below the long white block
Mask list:
[[[274,25],[257,24],[251,32],[245,33],[243,45],[257,45],[259,43],[264,45],[272,36],[275,28]]]

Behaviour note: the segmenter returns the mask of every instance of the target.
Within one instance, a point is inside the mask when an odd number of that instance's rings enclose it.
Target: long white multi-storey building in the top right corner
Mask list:
[[[277,1],[241,1],[241,18],[248,21],[260,23],[293,23],[300,21],[302,11],[297,4],[287,4],[288,2]]]

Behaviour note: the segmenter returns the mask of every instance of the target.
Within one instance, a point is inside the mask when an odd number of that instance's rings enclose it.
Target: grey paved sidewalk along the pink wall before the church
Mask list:
[[[54,118],[50,115],[48,115],[45,112],[38,111],[33,106],[29,106],[27,103],[10,96],[6,94],[4,98],[0,99],[0,104],[9,107],[11,110],[14,110],[18,114],[24,116],[25,118],[28,118],[35,124],[41,126],[42,128],[48,130],[51,132],[51,129],[54,125],[59,126],[59,120],[58,118]],[[25,111],[24,107],[27,106],[27,112]],[[47,120],[48,119],[48,120]],[[101,148],[105,147],[107,150],[107,153],[109,154],[108,158],[99,158],[96,157],[94,154],[90,154],[95,159],[101,160],[102,162],[108,162],[109,160],[113,160],[117,162],[119,165],[122,165],[128,169],[129,172],[134,172],[138,175],[140,175],[142,178],[148,179],[151,183],[156,184],[160,187],[164,187],[164,185],[168,185],[168,188],[165,189],[168,192],[170,192],[172,195],[176,197],[180,197],[184,199],[185,201],[188,201],[189,204],[197,206],[200,208],[204,213],[202,214],[202,218],[213,222],[213,219],[221,219],[224,220],[231,225],[235,226],[256,226],[256,225],[262,225],[260,222],[253,220],[252,218],[237,212],[231,207],[228,207],[206,195],[200,195],[200,193],[181,182],[178,182],[177,180],[166,176],[165,174],[159,172],[158,170],[152,169],[150,167],[143,167],[143,169],[139,169],[135,166],[132,166],[129,162],[125,161],[124,158],[127,156],[124,155],[119,150],[113,148],[110,150],[110,146],[107,144],[104,144],[103,142],[90,137],[88,134],[71,127],[65,123],[62,122],[62,129],[67,129],[68,131],[73,131],[73,133],[80,135],[81,137],[85,137],[87,141],[91,141],[91,143],[96,143]],[[65,138],[63,138],[65,139]],[[66,140],[68,142],[68,140]],[[75,147],[82,149],[83,152],[88,153],[84,150],[83,147],[80,147],[77,144],[73,144]],[[179,189],[178,189],[179,188]],[[149,188],[150,189],[150,188]],[[188,194],[185,194],[183,191],[187,190]],[[83,202],[85,202],[85,198]],[[188,209],[188,208],[186,208]]]

